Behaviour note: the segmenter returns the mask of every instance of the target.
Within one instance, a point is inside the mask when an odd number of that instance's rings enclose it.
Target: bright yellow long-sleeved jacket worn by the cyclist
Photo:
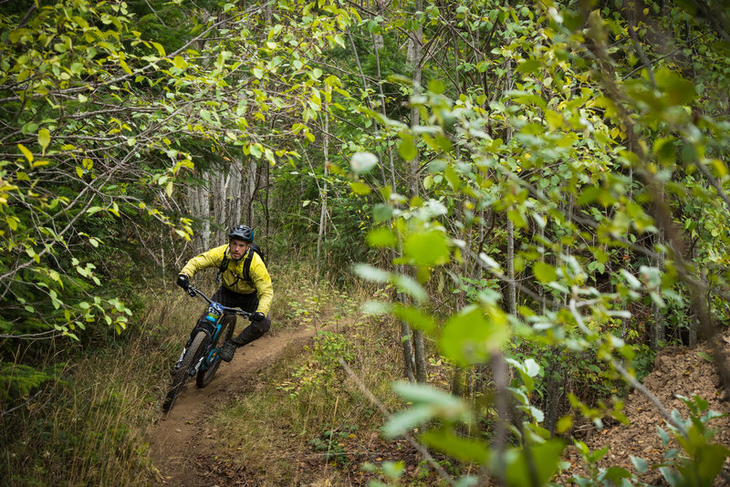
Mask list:
[[[235,261],[231,257],[230,252],[228,252],[228,245],[221,245],[220,247],[215,247],[193,257],[185,264],[183,270],[180,272],[181,274],[188,275],[188,277],[193,277],[196,272],[207,269],[208,267],[220,269],[225,256],[228,259],[228,265],[223,274],[221,274],[221,284],[226,289],[241,295],[256,293],[258,296],[258,308],[256,311],[266,316],[271,306],[271,300],[274,297],[274,286],[271,284],[271,276],[268,275],[266,264],[261,259],[261,255],[255,252],[254,258],[251,261],[251,268],[249,269],[249,275],[253,283],[245,280],[244,262],[251,252],[254,251],[248,249],[243,257]]]

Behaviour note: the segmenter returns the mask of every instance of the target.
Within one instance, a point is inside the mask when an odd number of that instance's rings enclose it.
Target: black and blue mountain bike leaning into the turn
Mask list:
[[[211,298],[192,285],[187,289],[192,297],[200,297],[208,303],[207,315],[204,323],[195,323],[183,352],[180,354],[177,363],[172,368],[172,389],[167,393],[162,410],[170,412],[178,395],[183,390],[185,382],[195,377],[195,384],[198,388],[204,388],[210,384],[216,370],[221,365],[221,357],[218,352],[220,337],[224,337],[221,346],[226,340],[234,335],[235,316],[251,317],[251,313],[242,309],[223,306],[215,303]]]

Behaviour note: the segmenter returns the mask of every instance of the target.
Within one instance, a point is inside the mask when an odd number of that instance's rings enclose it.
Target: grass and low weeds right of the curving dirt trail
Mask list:
[[[346,451],[342,441],[370,442],[382,417],[349,383],[337,358],[346,357],[368,388],[392,406],[397,399],[391,382],[401,377],[396,328],[360,313],[371,299],[368,289],[316,283],[301,267],[282,275],[289,280],[276,304],[279,325],[332,326],[318,332],[304,354],[301,348],[287,351],[214,413],[219,450],[230,453],[226,461],[257,473],[258,485],[338,484],[339,467],[379,454],[375,447]]]

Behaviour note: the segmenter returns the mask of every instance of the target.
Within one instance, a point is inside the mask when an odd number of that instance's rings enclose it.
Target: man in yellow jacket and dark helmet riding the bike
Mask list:
[[[228,233],[228,244],[215,247],[188,261],[177,276],[177,285],[185,291],[190,287],[190,278],[208,267],[220,269],[221,287],[215,291],[213,300],[223,306],[240,307],[253,313],[251,324],[244,328],[238,337],[224,343],[218,356],[230,362],[237,347],[251,343],[262,337],[271,327],[268,316],[271,299],[274,297],[274,286],[266,264],[257,252],[251,248],[254,242],[254,231],[246,225],[235,225]],[[250,259],[250,268],[245,272],[246,260]],[[205,323],[205,315],[198,319],[198,324]]]

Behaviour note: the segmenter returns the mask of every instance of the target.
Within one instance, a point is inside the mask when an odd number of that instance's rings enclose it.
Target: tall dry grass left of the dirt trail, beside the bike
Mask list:
[[[144,434],[191,311],[169,293],[145,300],[122,336],[69,352],[60,380],[0,418],[4,485],[158,483]]]

